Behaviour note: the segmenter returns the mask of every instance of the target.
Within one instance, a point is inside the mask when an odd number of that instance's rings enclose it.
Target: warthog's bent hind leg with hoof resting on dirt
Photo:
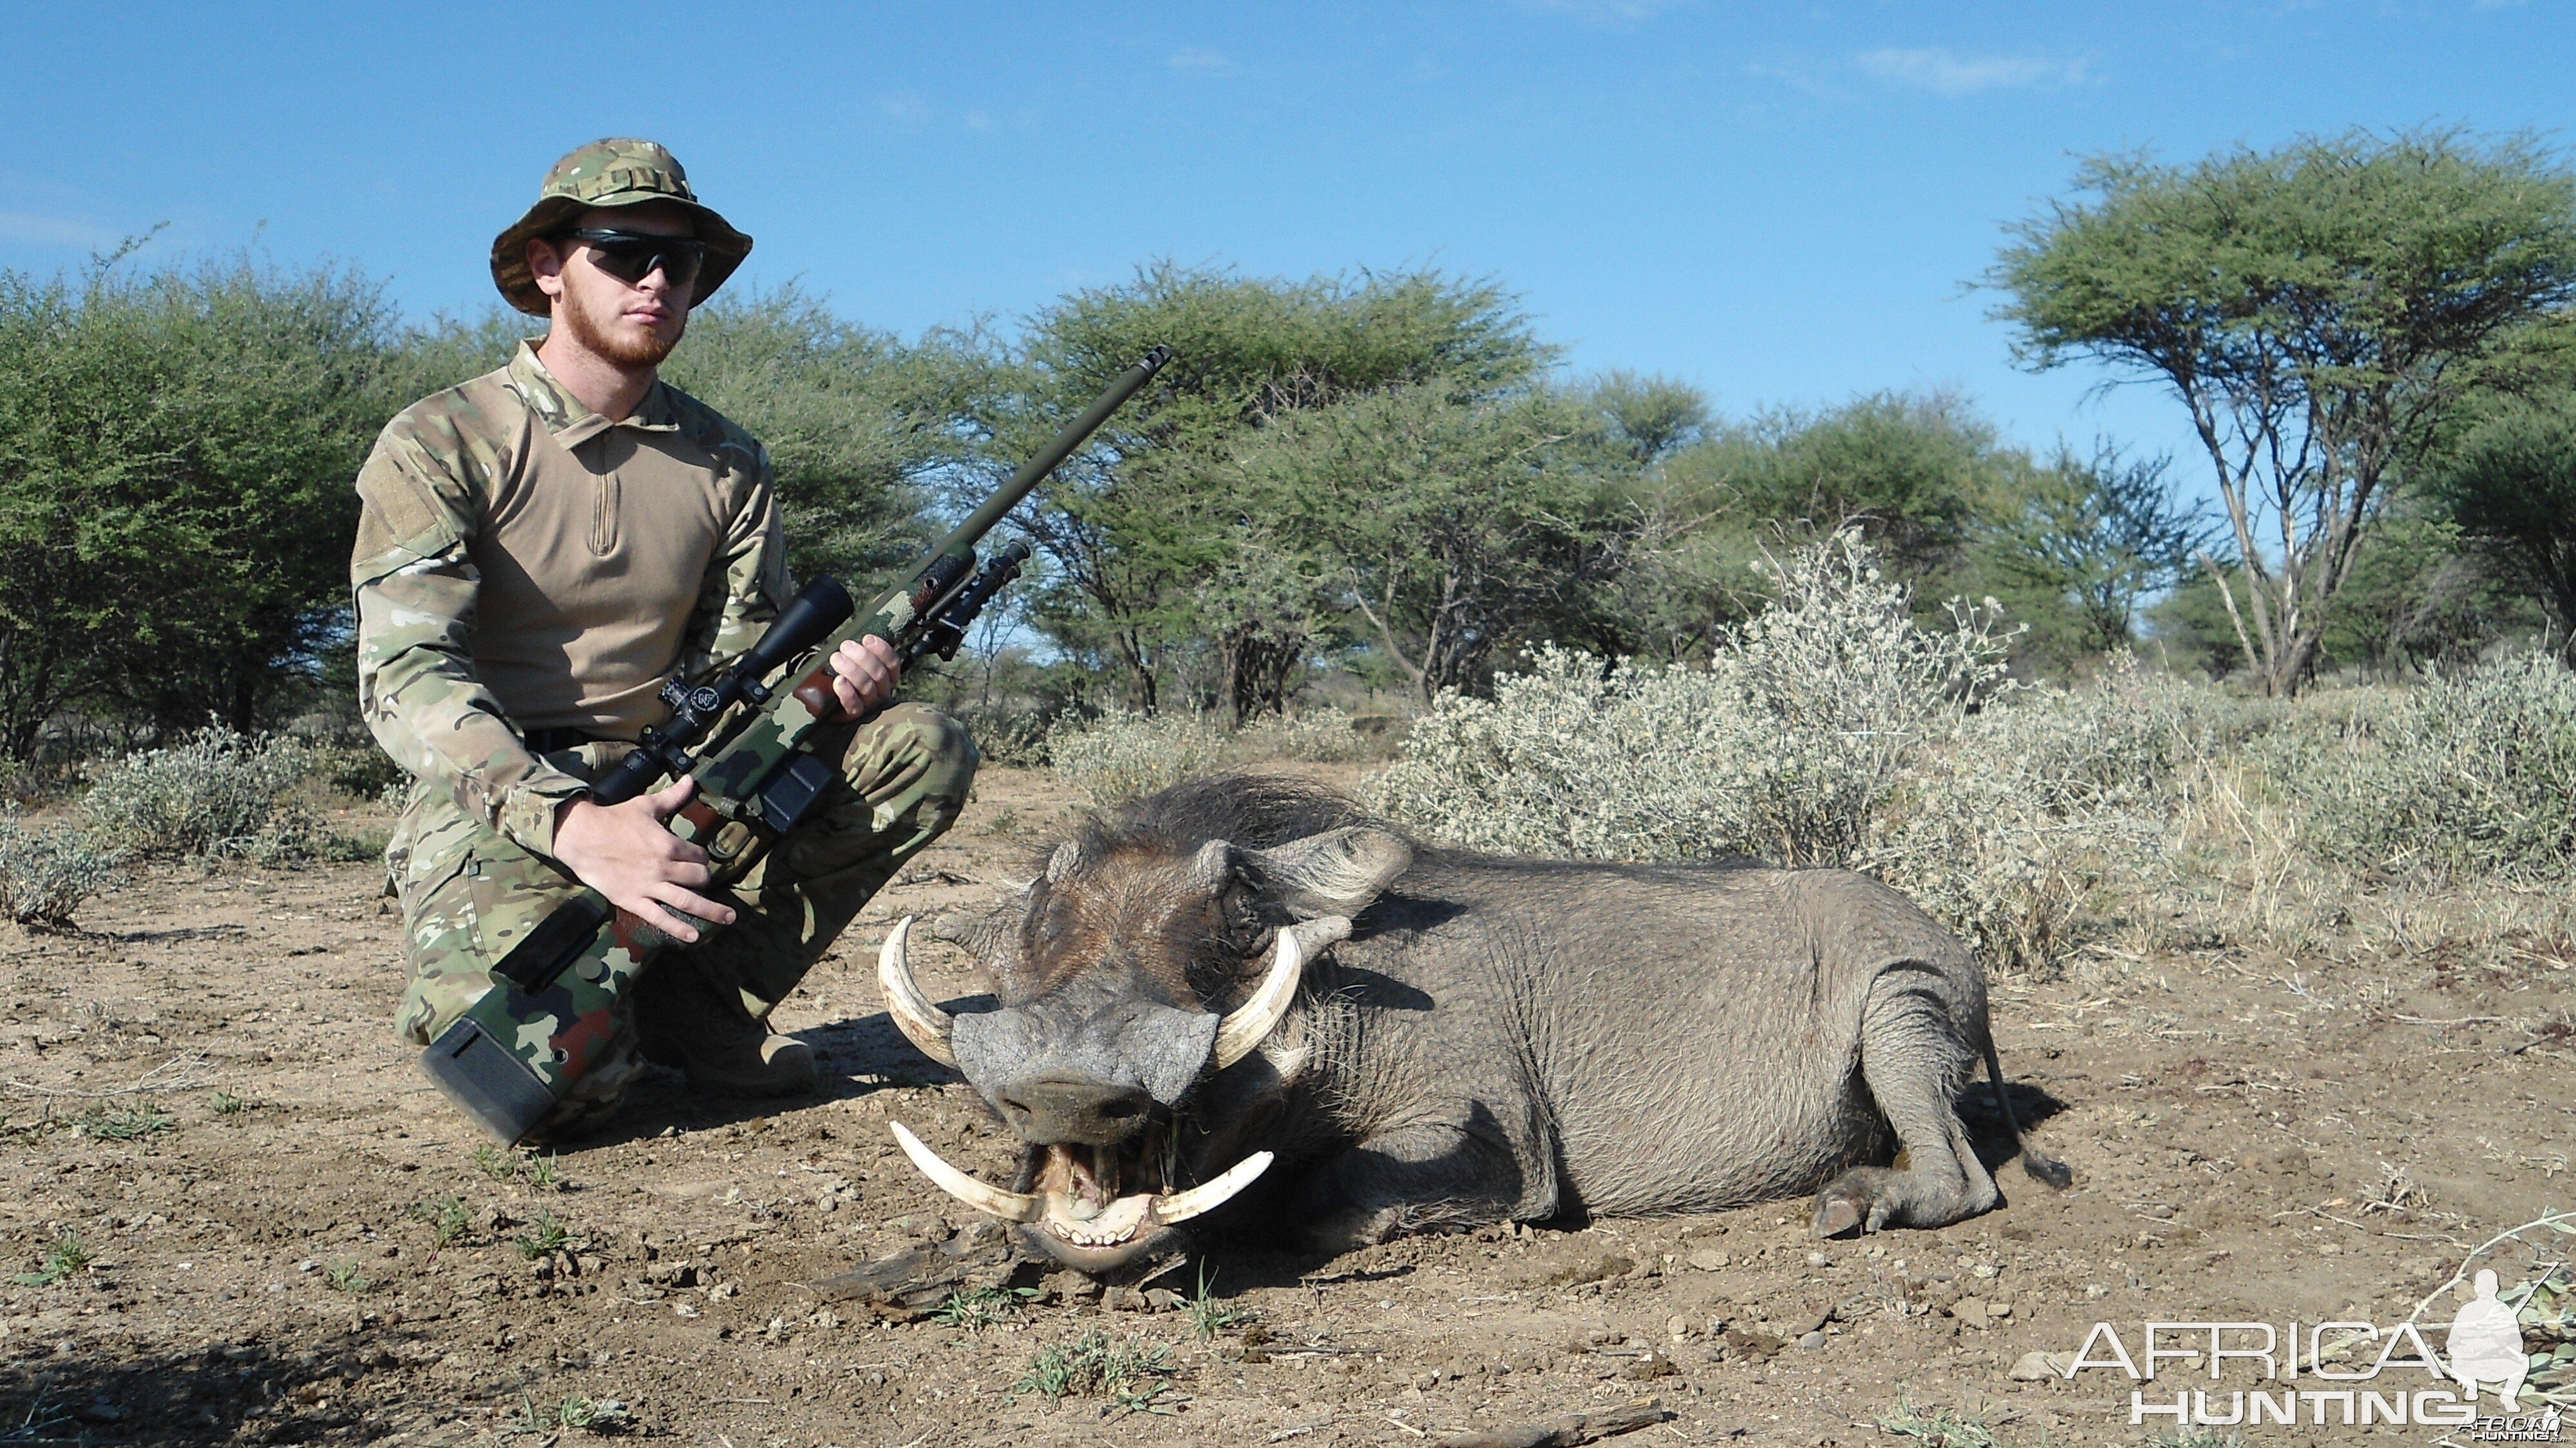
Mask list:
[[[1947,1002],[1922,976],[1891,971],[1870,989],[1860,1028],[1860,1077],[1906,1149],[1906,1170],[1852,1167],[1816,1193],[1816,1234],[1880,1226],[1947,1226],[2002,1201],[1958,1118],[1958,1090],[1976,1072]]]

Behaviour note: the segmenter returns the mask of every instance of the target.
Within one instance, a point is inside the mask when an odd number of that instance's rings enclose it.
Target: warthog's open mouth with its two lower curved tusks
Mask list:
[[[940,1190],[966,1206],[1023,1224],[1048,1255],[1082,1270],[1108,1270],[1154,1247],[1170,1226],[1216,1211],[1270,1170],[1270,1152],[1252,1152],[1224,1175],[1167,1190],[1177,1139],[1172,1126],[1121,1147],[1033,1144],[1025,1193],[1002,1190],[940,1159],[894,1121],[894,1141]],[[1131,1190],[1121,1190],[1131,1188]]]

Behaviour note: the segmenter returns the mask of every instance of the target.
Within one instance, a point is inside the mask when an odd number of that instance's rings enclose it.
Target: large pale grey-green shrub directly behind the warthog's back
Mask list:
[[[1484,850],[1847,866],[1906,770],[2007,688],[1991,611],[1919,629],[1855,533],[1772,564],[1780,600],[1705,670],[1540,649],[1494,701],[1448,693],[1370,804]]]

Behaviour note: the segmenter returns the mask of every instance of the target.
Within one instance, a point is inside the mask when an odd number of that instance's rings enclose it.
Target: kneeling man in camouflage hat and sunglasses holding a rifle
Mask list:
[[[551,317],[546,338],[404,410],[358,474],[358,703],[415,781],[386,845],[410,961],[402,1036],[438,1038],[582,886],[693,943],[618,997],[611,1043],[533,1136],[603,1121],[639,1056],[719,1095],[809,1090],[811,1051],[770,1033],[768,1013],[948,830],[974,781],[956,721],[886,706],[894,652],[868,639],[829,660],[842,721],[817,752],[840,786],[734,884],[734,904],[698,894],[706,853],[662,827],[693,781],[587,799],[667,716],[665,678],[721,667],[791,598],[768,453],[659,381],[688,309],[750,250],[667,149],[567,155],[492,242],[495,283]],[[675,912],[724,930],[696,943]]]

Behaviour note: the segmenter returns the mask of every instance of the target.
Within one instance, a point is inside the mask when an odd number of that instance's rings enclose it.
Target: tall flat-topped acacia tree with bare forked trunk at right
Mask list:
[[[2202,557],[2267,693],[2316,665],[2393,477],[2504,338],[2576,296],[2576,180],[2527,139],[2303,137],[2195,165],[2092,157],[1989,283],[2032,368],[2174,392],[2236,541]]]

